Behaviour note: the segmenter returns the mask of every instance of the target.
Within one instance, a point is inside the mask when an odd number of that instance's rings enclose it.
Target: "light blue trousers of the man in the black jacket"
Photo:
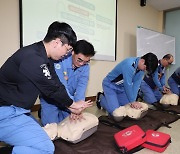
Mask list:
[[[30,110],[15,106],[0,107],[0,141],[13,145],[13,154],[53,154],[54,145]]]

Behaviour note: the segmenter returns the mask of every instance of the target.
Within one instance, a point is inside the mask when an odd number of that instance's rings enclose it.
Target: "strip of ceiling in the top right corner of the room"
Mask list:
[[[151,5],[158,11],[180,8],[180,0],[146,0],[146,5]]]

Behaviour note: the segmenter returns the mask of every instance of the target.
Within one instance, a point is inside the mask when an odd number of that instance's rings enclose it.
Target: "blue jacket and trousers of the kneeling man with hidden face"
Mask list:
[[[104,95],[100,105],[110,114],[120,106],[136,101],[144,71],[138,70],[140,58],[131,57],[119,63],[103,80]]]

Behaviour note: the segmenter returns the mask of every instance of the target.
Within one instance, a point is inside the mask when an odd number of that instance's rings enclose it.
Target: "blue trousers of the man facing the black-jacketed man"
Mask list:
[[[60,110],[55,105],[47,103],[41,99],[41,123],[45,126],[48,123],[59,123],[69,116],[68,112]]]

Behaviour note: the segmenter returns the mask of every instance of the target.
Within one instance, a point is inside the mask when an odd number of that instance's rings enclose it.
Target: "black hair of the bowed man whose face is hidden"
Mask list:
[[[158,66],[158,58],[155,54],[149,52],[141,57],[141,59],[145,60],[146,70],[148,74],[152,74],[155,72]]]

